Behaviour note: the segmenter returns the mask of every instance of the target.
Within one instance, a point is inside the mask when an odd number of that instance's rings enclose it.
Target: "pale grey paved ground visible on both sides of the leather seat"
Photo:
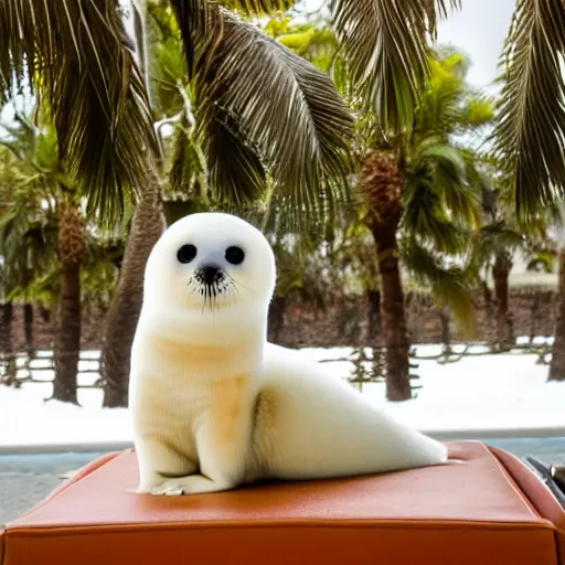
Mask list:
[[[489,439],[520,457],[531,455],[542,462],[565,463],[565,438]],[[90,454],[0,456],[0,525],[29,510],[61,483],[58,476],[99,457]]]

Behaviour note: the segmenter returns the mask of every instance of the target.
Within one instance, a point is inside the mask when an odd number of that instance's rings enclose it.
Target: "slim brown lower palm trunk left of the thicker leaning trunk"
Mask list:
[[[81,264],[63,264],[55,342],[53,399],[78,404],[76,374],[81,356]]]

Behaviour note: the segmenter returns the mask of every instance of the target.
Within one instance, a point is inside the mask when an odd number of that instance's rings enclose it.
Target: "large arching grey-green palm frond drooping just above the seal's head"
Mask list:
[[[250,181],[248,195],[257,193],[262,164],[279,202],[288,204],[288,223],[316,222],[348,198],[352,114],[329,76],[312,64],[222,10],[214,18],[221,33],[196,66],[196,124],[209,148],[232,148],[252,167],[252,177],[216,151],[211,191],[226,195],[235,181]],[[209,127],[214,121],[230,129]],[[222,167],[230,170],[221,172]],[[216,185],[214,179],[227,184]]]

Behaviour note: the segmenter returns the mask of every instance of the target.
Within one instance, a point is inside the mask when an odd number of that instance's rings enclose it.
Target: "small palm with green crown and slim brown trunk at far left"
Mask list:
[[[23,116],[17,117],[17,124],[8,128],[11,138],[2,143],[18,157],[14,167],[22,179],[12,191],[11,210],[2,214],[0,245],[17,285],[12,296],[19,290],[26,303],[38,271],[54,267],[50,252],[57,249],[61,270],[53,398],[76,404],[85,234],[74,202],[74,183],[62,168],[53,128],[35,128]],[[56,239],[50,242],[53,233]]]

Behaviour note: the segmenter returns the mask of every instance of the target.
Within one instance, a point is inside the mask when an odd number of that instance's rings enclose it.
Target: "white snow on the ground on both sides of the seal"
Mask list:
[[[343,359],[351,348],[303,349],[316,361]],[[419,347],[418,354],[433,355],[437,347]],[[96,356],[96,355],[93,355]],[[457,363],[418,361],[413,381],[423,387],[415,399],[388,403],[384,383],[363,385],[363,394],[396,418],[433,435],[467,430],[481,436],[484,430],[532,428],[562,429],[565,435],[565,383],[547,383],[547,366],[537,356],[509,353],[463,358]],[[92,369],[82,361],[81,369]],[[323,363],[324,370],[349,375],[349,361]],[[42,372],[42,379],[52,375]],[[92,384],[96,375],[81,375]],[[0,450],[10,446],[82,445],[130,443],[131,424],[127,409],[102,408],[102,391],[79,390],[82,407],[44,402],[51,383],[24,383],[20,390],[0,386]],[[491,434],[492,435],[492,434]],[[555,434],[554,434],[555,435]]]

